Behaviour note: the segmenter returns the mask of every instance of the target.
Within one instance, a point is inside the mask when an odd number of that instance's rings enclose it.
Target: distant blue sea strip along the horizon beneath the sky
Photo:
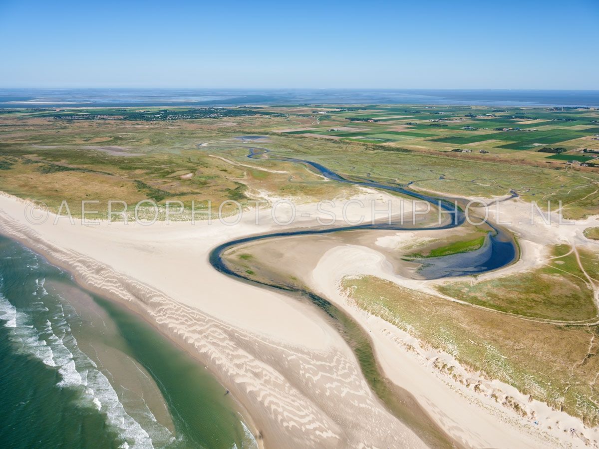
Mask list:
[[[0,108],[292,104],[599,107],[599,90],[511,89],[0,89]]]

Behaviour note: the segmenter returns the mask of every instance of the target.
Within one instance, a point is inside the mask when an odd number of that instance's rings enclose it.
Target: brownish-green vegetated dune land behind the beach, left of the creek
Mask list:
[[[0,188],[21,198],[44,201],[55,212],[65,199],[74,216],[81,215],[81,200],[98,200],[100,203],[88,210],[98,210],[100,218],[106,217],[109,199],[126,201],[130,214],[135,204],[144,199],[162,207],[167,201],[182,201],[187,214],[192,201],[196,210],[204,211],[211,201],[212,213],[216,214],[219,205],[228,200],[247,207],[249,187],[301,195],[305,199],[319,198],[323,190],[333,195],[347,190],[335,189],[330,185],[334,183],[323,188],[322,178],[301,167],[290,166],[283,173],[260,169],[276,163],[247,159],[247,150],[240,149],[233,137],[253,132],[255,122],[264,117],[235,118],[245,121],[66,123],[27,114],[10,120],[3,116]],[[214,141],[222,141],[225,146],[198,146]],[[238,160],[244,166],[214,156]],[[236,210],[234,205],[223,209],[225,214]],[[95,218],[93,214],[88,217]]]

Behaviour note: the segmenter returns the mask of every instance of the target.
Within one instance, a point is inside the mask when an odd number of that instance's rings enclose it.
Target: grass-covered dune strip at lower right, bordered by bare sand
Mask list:
[[[358,307],[395,324],[464,366],[599,424],[598,326],[523,320],[446,301],[376,277],[346,278]]]

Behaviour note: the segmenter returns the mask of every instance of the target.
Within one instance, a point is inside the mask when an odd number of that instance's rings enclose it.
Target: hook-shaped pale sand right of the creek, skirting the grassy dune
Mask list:
[[[341,261],[341,262],[340,262]],[[328,250],[306,279],[314,291],[330,299],[352,315],[358,323],[370,330],[379,362],[385,374],[423,404],[432,418],[453,439],[467,447],[539,448],[585,447],[577,438],[597,439],[598,429],[588,429],[582,421],[565,412],[555,411],[539,401],[529,401],[527,395],[497,380],[477,377],[461,367],[455,357],[443,351],[432,350],[388,321],[359,309],[347,298],[340,281],[347,275],[374,275],[401,286],[418,289],[418,283],[429,281],[406,280],[389,269],[385,257],[370,248],[343,245]],[[407,350],[407,348],[410,350]],[[479,392],[468,389],[448,375],[434,368],[436,360],[453,366],[470,384],[479,383]],[[530,418],[522,418],[512,409],[501,406],[491,394],[517,398],[538,421],[560,423],[553,430],[531,426]],[[532,414],[529,413],[529,417]],[[564,433],[562,429],[576,429]]]

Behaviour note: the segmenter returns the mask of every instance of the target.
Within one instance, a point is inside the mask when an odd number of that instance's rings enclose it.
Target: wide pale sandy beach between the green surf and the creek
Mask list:
[[[266,232],[272,222],[256,226],[251,214],[236,226],[68,219],[32,226],[25,202],[2,196],[0,203],[2,233],[125,302],[195,354],[247,409],[265,446],[424,446],[373,395],[350,348],[315,310],[209,265],[214,245]]]

